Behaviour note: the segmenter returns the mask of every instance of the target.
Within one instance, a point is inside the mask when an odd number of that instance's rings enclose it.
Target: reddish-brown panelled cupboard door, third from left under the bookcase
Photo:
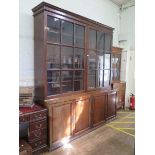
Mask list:
[[[94,96],[93,102],[93,126],[105,121],[106,112],[106,94],[98,94]]]

